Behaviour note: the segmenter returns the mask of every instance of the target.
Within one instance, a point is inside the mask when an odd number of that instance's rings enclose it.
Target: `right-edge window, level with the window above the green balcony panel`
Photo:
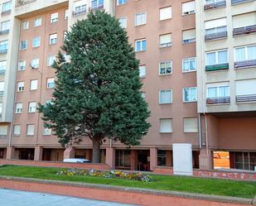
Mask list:
[[[234,48],[234,60],[256,60],[256,46],[242,46]]]

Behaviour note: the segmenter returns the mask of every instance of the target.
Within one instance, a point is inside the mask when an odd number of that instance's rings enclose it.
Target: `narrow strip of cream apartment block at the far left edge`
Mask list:
[[[12,1],[0,1],[0,158],[6,158],[11,137],[12,104],[16,73],[18,34],[13,32]]]

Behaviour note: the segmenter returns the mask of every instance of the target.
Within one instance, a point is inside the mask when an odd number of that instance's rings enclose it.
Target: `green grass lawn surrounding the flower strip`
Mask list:
[[[43,180],[65,180],[72,182],[109,184],[146,189],[186,191],[190,193],[216,194],[240,198],[254,198],[254,195],[256,194],[256,182],[249,181],[152,175],[154,181],[147,183],[134,180],[105,179],[93,176],[56,175],[56,172],[60,170],[60,168],[2,165],[0,166],[0,175]]]

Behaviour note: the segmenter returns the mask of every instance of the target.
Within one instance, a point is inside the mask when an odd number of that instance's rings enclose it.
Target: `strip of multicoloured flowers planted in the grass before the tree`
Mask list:
[[[101,170],[79,170],[79,169],[65,169],[57,172],[57,175],[68,176],[94,176],[108,179],[122,179],[122,180],[137,180],[142,182],[152,182],[152,176],[138,173],[138,172],[123,172],[123,171],[101,171]]]

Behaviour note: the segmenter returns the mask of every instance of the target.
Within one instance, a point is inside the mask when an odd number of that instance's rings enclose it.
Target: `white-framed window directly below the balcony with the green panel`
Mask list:
[[[207,84],[207,98],[229,97],[229,83]]]

